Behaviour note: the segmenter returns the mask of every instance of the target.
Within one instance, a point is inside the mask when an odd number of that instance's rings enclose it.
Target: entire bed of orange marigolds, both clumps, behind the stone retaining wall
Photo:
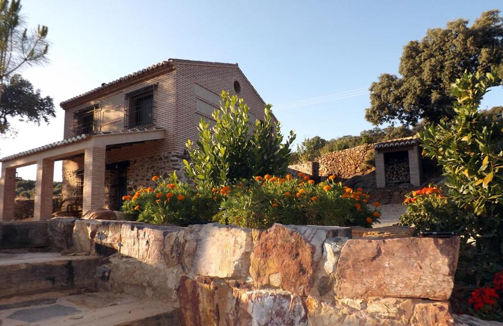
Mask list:
[[[273,223],[370,227],[379,220],[379,203],[369,204],[363,189],[334,179],[316,184],[303,174],[265,175],[214,188],[178,182],[176,174],[166,180],[154,176],[156,186],[124,196],[122,210],[139,221],[177,225],[218,221],[258,228]]]

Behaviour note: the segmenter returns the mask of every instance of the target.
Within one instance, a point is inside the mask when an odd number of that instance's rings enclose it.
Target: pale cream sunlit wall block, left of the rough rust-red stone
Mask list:
[[[183,239],[182,263],[188,274],[241,279],[249,275],[251,229],[218,223],[190,225]]]

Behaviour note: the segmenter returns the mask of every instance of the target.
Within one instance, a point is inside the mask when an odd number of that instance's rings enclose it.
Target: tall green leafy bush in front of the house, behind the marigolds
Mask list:
[[[295,133],[290,131],[283,143],[271,105],[264,109],[264,121],[256,120],[250,128],[249,108],[243,99],[230,97],[228,92],[221,97],[220,109],[212,114],[215,124],[201,119],[195,146],[187,141],[191,161],[184,162],[189,178],[198,184],[223,186],[255,175],[285,173]]]

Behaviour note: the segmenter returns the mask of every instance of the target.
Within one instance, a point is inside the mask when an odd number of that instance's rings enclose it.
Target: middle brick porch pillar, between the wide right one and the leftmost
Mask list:
[[[40,159],[37,161],[37,181],[35,182],[34,220],[47,220],[52,217],[52,189],[54,161]]]

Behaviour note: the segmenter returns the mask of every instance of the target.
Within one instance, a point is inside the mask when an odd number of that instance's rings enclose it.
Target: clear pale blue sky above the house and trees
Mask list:
[[[0,156],[60,140],[59,102],[167,58],[237,62],[273,105],[368,88],[397,73],[402,47],[428,28],[473,19],[501,1],[22,0],[28,26],[49,27],[50,62],[23,75],[54,98],[49,126],[15,123]],[[501,105],[492,92],[483,105]],[[372,126],[368,95],[275,111],[284,133],[330,139]],[[274,110],[274,107],[273,107]],[[60,165],[55,180],[60,180]],[[35,178],[33,167],[19,169]]]

